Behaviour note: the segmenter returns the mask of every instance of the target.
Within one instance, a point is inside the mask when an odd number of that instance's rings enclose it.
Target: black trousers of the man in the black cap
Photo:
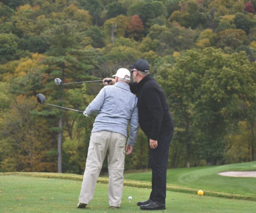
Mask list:
[[[166,170],[172,135],[173,130],[161,133],[157,148],[149,147],[149,162],[152,169],[152,191],[149,199],[162,204],[165,204],[166,199]]]

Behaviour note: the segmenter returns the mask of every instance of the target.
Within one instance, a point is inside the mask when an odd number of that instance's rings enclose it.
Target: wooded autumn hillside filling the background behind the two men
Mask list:
[[[0,172],[81,174],[99,80],[144,58],[175,122],[169,168],[255,161],[256,0],[1,0]],[[125,170],[147,169],[140,130]],[[106,162],[103,172],[107,171]]]

